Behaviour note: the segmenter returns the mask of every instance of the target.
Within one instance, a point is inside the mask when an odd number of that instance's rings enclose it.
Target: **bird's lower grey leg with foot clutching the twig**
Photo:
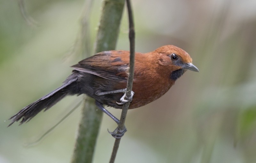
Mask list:
[[[100,102],[95,101],[95,104],[100,108],[100,110],[102,110],[104,113],[106,113],[106,114],[107,114],[110,118],[112,118],[117,124],[120,123],[120,120],[118,120],[113,114],[111,114],[110,112],[108,112],[108,110],[105,109],[105,108],[103,107],[103,105],[102,105]],[[119,133],[117,133],[117,131],[118,131]],[[127,131],[127,129],[126,129],[125,126],[124,126],[124,129],[122,129],[122,130],[119,130],[118,127],[117,127],[113,132],[110,132],[110,131],[108,130],[109,134],[111,134],[114,138],[117,138],[117,139],[120,139],[120,138],[124,135],[124,133],[125,133],[126,131]]]

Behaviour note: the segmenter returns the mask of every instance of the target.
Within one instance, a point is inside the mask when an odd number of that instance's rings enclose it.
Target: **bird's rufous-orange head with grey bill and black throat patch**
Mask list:
[[[199,72],[198,68],[192,64],[189,54],[174,45],[162,46],[155,52],[158,53],[159,65],[171,73],[171,80],[177,80],[187,70]]]

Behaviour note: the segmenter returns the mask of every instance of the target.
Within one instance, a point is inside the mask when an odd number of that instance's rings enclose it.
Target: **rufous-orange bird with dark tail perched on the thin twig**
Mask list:
[[[62,86],[13,115],[9,126],[15,121],[28,122],[67,95],[81,94],[94,98],[96,105],[118,124],[119,120],[103,105],[120,109],[129,100],[129,109],[147,105],[163,96],[187,70],[199,72],[189,54],[174,45],[164,45],[148,53],[136,52],[132,99],[124,100],[129,60],[130,51],[126,50],[102,51],[81,60],[71,66],[72,74]],[[111,135],[118,136],[114,132]]]

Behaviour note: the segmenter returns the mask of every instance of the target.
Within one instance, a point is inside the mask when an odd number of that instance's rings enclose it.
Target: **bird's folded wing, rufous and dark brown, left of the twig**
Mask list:
[[[104,51],[81,60],[71,67],[77,71],[94,74],[111,81],[127,82],[129,65],[121,59],[126,54],[129,56],[129,51]]]

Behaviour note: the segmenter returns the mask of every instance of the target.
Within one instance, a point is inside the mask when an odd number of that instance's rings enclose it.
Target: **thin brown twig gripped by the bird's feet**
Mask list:
[[[131,7],[130,0],[126,0],[126,4],[127,4],[128,16],[129,16],[130,69],[129,69],[129,76],[128,76],[128,81],[127,81],[126,97],[125,98],[130,99],[131,92],[132,92],[133,75],[134,75],[135,31],[134,31],[132,7]],[[122,131],[124,129],[124,122],[125,122],[126,114],[127,114],[130,103],[131,102],[128,102],[123,105],[120,123],[118,124],[118,130],[120,130],[120,131]],[[117,133],[119,133],[118,130],[117,130]],[[115,162],[116,153],[118,151],[120,141],[121,141],[121,138],[118,138],[118,139],[116,138],[109,163]]]

